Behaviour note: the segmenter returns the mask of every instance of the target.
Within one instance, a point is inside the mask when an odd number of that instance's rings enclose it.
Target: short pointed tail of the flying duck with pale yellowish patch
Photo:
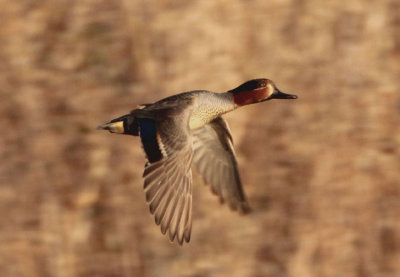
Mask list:
[[[97,130],[108,130],[110,133],[138,136],[139,122],[132,114],[126,114],[111,120],[109,123],[97,126]]]

